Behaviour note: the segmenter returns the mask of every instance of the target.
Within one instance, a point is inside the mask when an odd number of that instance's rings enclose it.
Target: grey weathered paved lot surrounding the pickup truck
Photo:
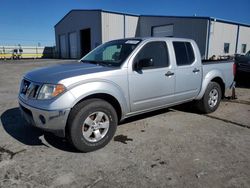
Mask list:
[[[130,118],[79,153],[27,125],[16,99],[25,72],[70,62],[0,61],[0,187],[250,187],[250,89],[209,115],[183,105]]]

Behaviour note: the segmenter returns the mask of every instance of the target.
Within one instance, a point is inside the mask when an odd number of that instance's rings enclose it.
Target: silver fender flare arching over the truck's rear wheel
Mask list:
[[[203,82],[202,82],[202,86],[201,86],[201,90],[200,90],[200,93],[199,95],[196,97],[196,100],[199,100],[203,97],[206,89],[207,89],[207,86],[208,84],[211,82],[211,80],[213,80],[214,78],[221,78],[222,80],[224,80],[224,76],[222,74],[221,71],[219,70],[212,70],[212,71],[209,71],[204,79],[203,79]]]

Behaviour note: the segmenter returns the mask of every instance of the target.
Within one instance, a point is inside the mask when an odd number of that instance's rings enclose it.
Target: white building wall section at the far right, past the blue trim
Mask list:
[[[238,37],[238,47],[237,53],[242,53],[242,44],[246,44],[246,52],[250,50],[250,27],[239,26],[239,37]]]

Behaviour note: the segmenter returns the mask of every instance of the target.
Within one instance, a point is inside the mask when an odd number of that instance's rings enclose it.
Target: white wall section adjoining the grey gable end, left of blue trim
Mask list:
[[[102,12],[102,43],[124,38],[124,15]]]

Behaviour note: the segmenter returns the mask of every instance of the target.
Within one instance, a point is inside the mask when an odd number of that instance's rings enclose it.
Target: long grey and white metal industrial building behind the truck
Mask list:
[[[250,25],[212,17],[71,10],[55,25],[56,49],[61,58],[80,58],[109,40],[149,36],[191,38],[203,59],[250,50]]]

